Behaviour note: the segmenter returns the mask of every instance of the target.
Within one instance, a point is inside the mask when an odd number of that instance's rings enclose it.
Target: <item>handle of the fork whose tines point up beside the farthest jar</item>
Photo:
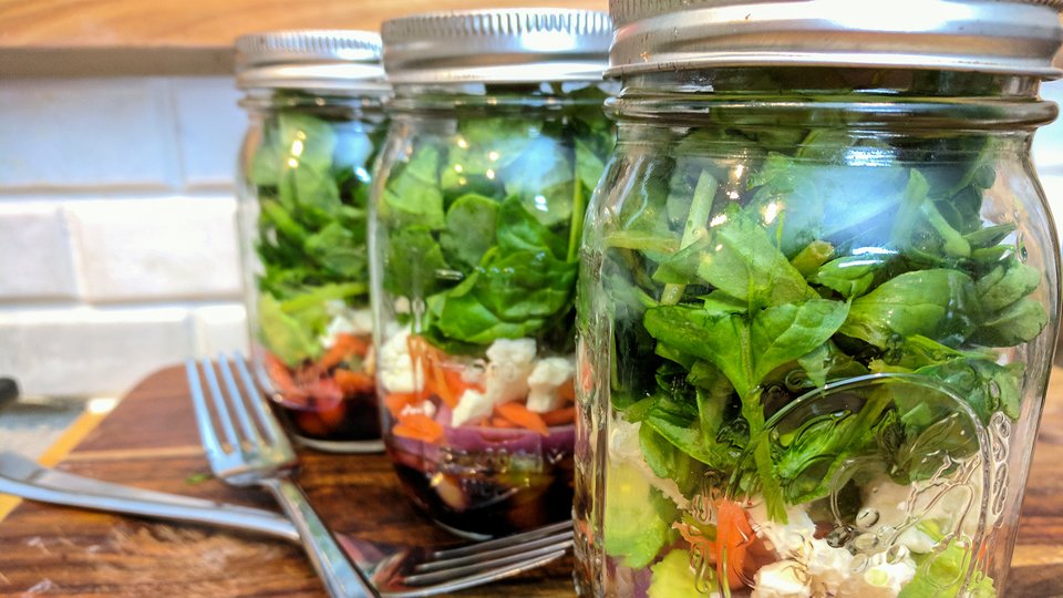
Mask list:
[[[299,486],[283,477],[262,480],[260,484],[272,493],[292,525],[299,530],[307,556],[310,557],[310,563],[313,564],[330,596],[333,598],[380,596],[361,571],[348,560]]]

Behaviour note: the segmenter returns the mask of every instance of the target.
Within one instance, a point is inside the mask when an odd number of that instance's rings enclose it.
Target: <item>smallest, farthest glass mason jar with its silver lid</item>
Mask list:
[[[237,40],[239,231],[259,378],[303,445],[382,448],[365,249],[389,87],[380,37],[281,31]]]

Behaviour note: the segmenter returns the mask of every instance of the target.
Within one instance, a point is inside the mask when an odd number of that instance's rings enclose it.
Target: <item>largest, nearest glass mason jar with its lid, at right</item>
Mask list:
[[[869,2],[854,38],[837,2],[736,4],[612,4],[577,589],[1001,595],[1060,315],[1029,156],[1056,114],[1036,96],[1056,16],[921,0],[940,27],[891,31]],[[767,30],[737,53],[724,37]]]

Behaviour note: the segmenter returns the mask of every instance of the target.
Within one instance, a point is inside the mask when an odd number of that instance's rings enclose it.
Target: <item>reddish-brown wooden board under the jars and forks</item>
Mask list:
[[[394,543],[451,540],[402,496],[383,455],[306,453],[299,482],[333,529]],[[184,370],[163,370],[107,416],[91,414],[41,458],[110,482],[276,508],[208,478]],[[12,502],[13,503],[13,502]],[[322,596],[301,550],[257,535],[34,503],[0,502],[0,596]],[[461,596],[572,595],[571,560]],[[1019,543],[1012,597],[1063,596],[1063,371],[1053,375]]]

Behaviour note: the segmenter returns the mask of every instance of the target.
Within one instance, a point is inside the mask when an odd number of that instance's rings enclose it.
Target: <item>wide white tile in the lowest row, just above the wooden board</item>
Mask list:
[[[184,308],[0,311],[0,374],[27,394],[120,394],[192,350]]]

